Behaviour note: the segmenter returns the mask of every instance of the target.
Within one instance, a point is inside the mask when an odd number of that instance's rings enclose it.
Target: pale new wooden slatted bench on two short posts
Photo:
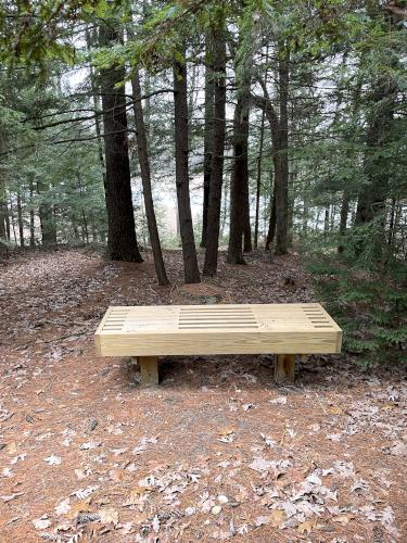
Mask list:
[[[276,354],[275,379],[293,381],[295,355],[340,353],[342,330],[320,304],[109,307],[94,334],[100,356],[130,356],[157,384],[157,356]]]

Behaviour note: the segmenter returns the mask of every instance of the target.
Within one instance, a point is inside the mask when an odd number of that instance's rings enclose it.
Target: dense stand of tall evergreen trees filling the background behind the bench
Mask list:
[[[198,243],[206,276],[225,242],[244,264],[318,232],[366,262],[406,256],[405,2],[56,5],[0,8],[0,239],[106,241],[110,258],[141,262],[137,175],[161,285],[160,177],[174,179],[187,282]]]

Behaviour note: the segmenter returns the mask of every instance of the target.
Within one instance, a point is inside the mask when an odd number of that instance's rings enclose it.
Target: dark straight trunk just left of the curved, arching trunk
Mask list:
[[[242,237],[246,227],[249,200],[249,81],[243,84],[234,109],[233,165],[230,179],[230,230],[227,257],[230,264],[245,264],[242,252]]]

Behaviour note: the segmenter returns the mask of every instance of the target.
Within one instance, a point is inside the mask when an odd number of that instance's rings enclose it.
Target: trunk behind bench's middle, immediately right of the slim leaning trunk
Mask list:
[[[176,62],[174,64],[174,113],[175,171],[178,217],[182,243],[183,274],[186,282],[200,282],[201,278],[196,261],[196,248],[193,236],[191,201],[189,192],[188,97],[187,65],[185,62]]]

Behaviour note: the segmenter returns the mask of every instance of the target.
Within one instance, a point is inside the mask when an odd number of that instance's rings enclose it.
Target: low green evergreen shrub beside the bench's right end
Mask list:
[[[344,331],[343,350],[363,366],[406,363],[407,292],[399,280],[406,275],[399,266],[379,273],[316,251],[305,260],[318,298]]]

